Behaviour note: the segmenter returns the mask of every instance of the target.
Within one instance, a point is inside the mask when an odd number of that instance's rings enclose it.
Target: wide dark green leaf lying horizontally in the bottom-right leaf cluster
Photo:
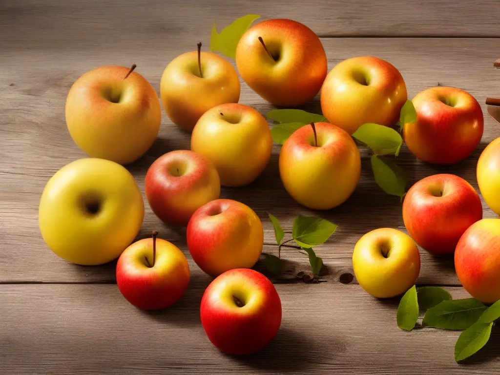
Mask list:
[[[443,329],[467,329],[484,312],[486,306],[474,298],[445,300],[430,307],[422,325]]]

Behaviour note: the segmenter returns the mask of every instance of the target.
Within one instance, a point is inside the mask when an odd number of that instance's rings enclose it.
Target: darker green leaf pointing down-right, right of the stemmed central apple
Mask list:
[[[371,169],[375,182],[387,194],[403,197],[405,194],[406,178],[404,170],[393,160],[379,155],[371,156]]]

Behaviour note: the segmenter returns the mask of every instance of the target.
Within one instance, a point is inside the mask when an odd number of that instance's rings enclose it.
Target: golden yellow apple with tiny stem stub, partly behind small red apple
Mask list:
[[[215,164],[222,186],[242,186],[257,178],[269,162],[272,136],[267,121],[255,109],[220,104],[196,122],[191,150]]]

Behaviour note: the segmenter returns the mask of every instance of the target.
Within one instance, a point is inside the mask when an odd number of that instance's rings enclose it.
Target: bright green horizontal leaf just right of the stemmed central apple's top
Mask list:
[[[399,133],[387,126],[365,123],[354,131],[354,138],[366,144],[375,155],[399,154],[403,139]]]

